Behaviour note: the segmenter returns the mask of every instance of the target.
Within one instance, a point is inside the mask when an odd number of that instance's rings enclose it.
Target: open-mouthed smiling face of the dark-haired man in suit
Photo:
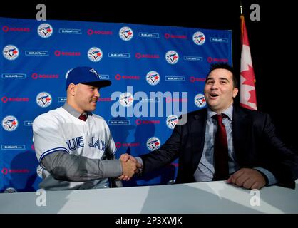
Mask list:
[[[234,87],[231,71],[217,68],[207,76],[204,94],[212,111],[222,113],[223,110],[229,108],[237,93],[238,89]]]

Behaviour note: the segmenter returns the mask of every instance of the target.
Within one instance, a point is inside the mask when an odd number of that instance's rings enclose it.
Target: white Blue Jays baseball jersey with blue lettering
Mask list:
[[[34,147],[39,163],[46,155],[61,150],[71,155],[99,160],[104,155],[115,154],[115,142],[110,129],[99,115],[88,115],[87,120],[83,121],[61,107],[39,115],[32,126]],[[42,164],[41,167],[43,167]],[[43,176],[50,175],[46,170],[43,171]],[[96,182],[98,180],[94,181],[94,185]],[[84,182],[70,182],[66,189],[74,189],[83,184]]]

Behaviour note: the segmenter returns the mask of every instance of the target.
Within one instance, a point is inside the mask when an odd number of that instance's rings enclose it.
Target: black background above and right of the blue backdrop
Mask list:
[[[6,1],[1,3],[0,16],[36,19],[38,3],[41,2]],[[260,5],[260,21],[250,20],[250,6],[255,3]],[[46,19],[230,29],[233,66],[240,72],[240,1],[73,1],[63,4],[43,1],[43,4]],[[297,151],[298,124],[294,119],[298,89],[297,10],[290,1],[242,0],[242,5],[257,81],[258,110],[271,115],[284,142]]]

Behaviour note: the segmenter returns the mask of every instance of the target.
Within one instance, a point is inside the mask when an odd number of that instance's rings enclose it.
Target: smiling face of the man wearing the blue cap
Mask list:
[[[93,112],[100,96],[98,92],[99,88],[96,86],[71,83],[68,86],[67,102],[80,113]]]

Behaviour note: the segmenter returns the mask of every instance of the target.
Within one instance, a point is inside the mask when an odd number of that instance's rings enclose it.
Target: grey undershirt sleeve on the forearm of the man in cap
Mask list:
[[[98,160],[56,151],[43,157],[41,164],[57,180],[83,182],[106,177],[119,177],[123,169],[120,160]]]

